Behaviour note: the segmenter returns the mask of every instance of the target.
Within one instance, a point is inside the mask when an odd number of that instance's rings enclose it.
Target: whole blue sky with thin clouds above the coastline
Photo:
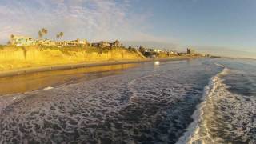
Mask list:
[[[0,0],[0,43],[44,27],[44,38],[256,58],[255,14],[255,0]]]

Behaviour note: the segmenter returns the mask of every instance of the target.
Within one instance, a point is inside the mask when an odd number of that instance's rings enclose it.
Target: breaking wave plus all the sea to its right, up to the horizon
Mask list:
[[[210,79],[195,121],[178,143],[256,143],[256,61],[214,62],[223,69]]]

